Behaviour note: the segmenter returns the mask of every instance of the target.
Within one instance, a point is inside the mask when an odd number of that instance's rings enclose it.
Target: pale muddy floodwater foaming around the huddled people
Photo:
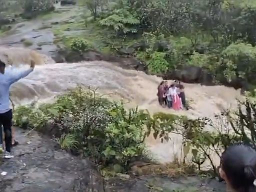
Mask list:
[[[20,70],[20,69],[16,69]],[[77,84],[98,87],[100,92],[115,93],[112,98],[124,98],[131,101],[130,106],[139,105],[151,113],[157,111],[175,112],[190,117],[214,118],[223,108],[236,106],[236,98],[240,97],[239,90],[225,86],[201,86],[186,84],[187,99],[191,99],[192,108],[188,111],[173,111],[158,105],[156,88],[161,78],[147,75],[140,71],[125,70],[104,61],[55,63],[37,65],[26,78],[11,86],[11,98],[16,104],[32,100],[52,98],[52,96],[73,88]],[[149,136],[146,143],[161,162],[172,161],[180,156],[181,138],[170,135],[172,140],[161,143],[159,139]]]

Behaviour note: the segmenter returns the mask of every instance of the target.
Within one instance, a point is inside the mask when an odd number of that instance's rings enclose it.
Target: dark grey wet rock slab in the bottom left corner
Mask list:
[[[56,142],[37,132],[16,130],[20,142],[14,158],[0,165],[1,192],[102,191],[101,177],[86,159],[57,149]]]

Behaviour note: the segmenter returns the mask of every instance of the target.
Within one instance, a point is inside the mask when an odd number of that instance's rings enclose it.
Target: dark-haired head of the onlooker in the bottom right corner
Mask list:
[[[229,146],[221,155],[219,174],[234,192],[256,191],[256,151],[244,144]]]

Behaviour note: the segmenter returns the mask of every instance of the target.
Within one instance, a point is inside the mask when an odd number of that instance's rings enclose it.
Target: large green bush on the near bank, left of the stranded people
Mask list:
[[[19,106],[14,124],[53,134],[60,147],[91,157],[96,164],[121,167],[143,155],[144,113],[125,110],[94,91],[77,87],[52,104]]]

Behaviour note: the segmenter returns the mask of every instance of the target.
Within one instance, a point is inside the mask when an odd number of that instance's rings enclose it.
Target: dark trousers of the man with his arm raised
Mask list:
[[[12,110],[0,113],[0,127],[3,126],[5,150],[10,152],[11,148],[11,126],[12,126]],[[0,141],[2,141],[2,130],[0,131]]]

